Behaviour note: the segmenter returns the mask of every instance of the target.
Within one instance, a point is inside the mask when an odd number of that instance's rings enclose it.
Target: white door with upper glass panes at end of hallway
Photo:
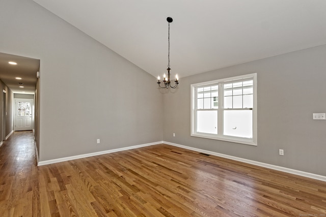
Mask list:
[[[32,130],[33,100],[15,99],[15,131]]]

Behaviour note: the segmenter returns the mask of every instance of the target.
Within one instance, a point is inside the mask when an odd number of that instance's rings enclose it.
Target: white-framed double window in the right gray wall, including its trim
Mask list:
[[[257,145],[256,74],[191,85],[191,136]]]

